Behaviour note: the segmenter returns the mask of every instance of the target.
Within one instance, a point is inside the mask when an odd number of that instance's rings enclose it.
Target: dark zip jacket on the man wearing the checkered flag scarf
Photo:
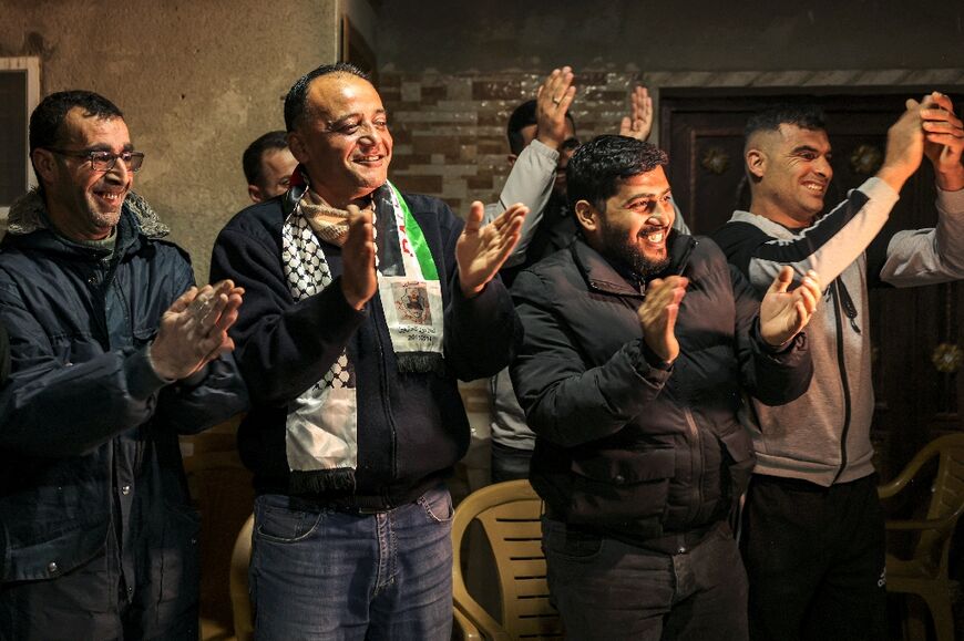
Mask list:
[[[255,473],[257,492],[294,493],[285,449],[287,404],[318,382],[347,348],[358,397],[355,488],[317,498],[410,502],[465,454],[469,422],[457,379],[489,376],[507,364],[521,332],[512,300],[498,279],[466,300],[455,265],[463,223],[441,200],[403,194],[439,270],[445,372],[400,373],[378,292],[360,312],[341,293],[339,247],[324,244],[335,280],[320,293],[293,300],[281,265],[281,226],[294,195],[243,210],[214,247],[212,278],[232,278],[246,290],[232,329],[254,405],[238,434],[242,457]]]

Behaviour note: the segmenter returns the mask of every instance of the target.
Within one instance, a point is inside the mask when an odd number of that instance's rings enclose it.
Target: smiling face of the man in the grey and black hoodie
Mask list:
[[[830,141],[823,130],[781,124],[761,131],[747,144],[751,175],[750,211],[786,227],[809,227],[823,210],[833,177]]]

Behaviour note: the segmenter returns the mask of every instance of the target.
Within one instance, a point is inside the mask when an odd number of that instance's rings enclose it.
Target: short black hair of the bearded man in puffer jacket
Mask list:
[[[652,172],[668,162],[666,152],[628,136],[596,136],[573,154],[566,167],[570,208],[587,200],[606,211],[606,200],[619,190],[619,180]]]

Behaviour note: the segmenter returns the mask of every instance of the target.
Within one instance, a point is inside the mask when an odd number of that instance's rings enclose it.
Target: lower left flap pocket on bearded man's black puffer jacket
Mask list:
[[[669,480],[676,474],[671,447],[606,449],[574,458],[570,523],[628,521],[666,510]]]

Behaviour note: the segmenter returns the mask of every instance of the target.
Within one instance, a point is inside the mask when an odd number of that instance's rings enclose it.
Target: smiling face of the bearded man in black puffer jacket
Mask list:
[[[619,180],[605,209],[599,211],[586,200],[576,203],[576,216],[596,251],[643,277],[666,268],[676,210],[662,166]]]

